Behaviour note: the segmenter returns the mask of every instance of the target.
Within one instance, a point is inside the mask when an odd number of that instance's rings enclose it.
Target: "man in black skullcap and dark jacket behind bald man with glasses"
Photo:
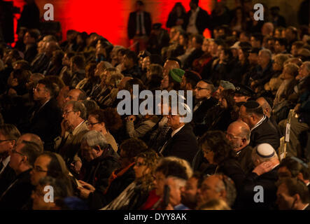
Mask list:
[[[267,143],[277,151],[280,146],[276,127],[262,111],[262,106],[255,101],[248,101],[240,107],[240,118],[251,128],[250,146]]]

